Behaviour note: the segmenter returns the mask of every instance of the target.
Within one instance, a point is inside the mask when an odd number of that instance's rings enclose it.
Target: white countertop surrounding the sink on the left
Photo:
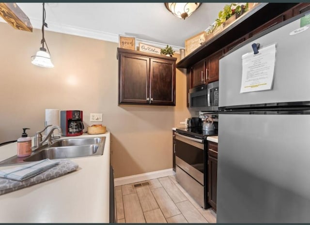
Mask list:
[[[0,223],[109,223],[110,133],[103,155],[70,159],[78,170],[0,195]],[[16,155],[16,142],[0,147],[0,161]],[[2,166],[8,169],[14,166]]]

